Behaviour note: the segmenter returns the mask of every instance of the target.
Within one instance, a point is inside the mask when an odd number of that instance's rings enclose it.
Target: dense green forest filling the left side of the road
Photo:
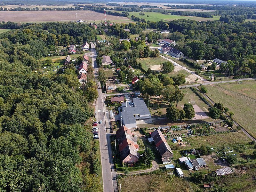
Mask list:
[[[96,38],[93,28],[73,23],[24,24],[1,34],[1,191],[102,190],[93,108],[74,66],[55,75],[32,72],[50,46],[71,37]]]

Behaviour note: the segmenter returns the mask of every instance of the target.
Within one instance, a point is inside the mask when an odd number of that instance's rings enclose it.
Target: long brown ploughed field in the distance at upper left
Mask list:
[[[104,13],[93,11],[2,11],[1,21],[13,22],[42,22],[42,21],[104,21]],[[128,20],[127,17],[108,15],[108,20]]]

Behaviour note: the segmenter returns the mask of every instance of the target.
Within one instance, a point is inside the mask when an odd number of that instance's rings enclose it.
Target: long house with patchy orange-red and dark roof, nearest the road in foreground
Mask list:
[[[131,130],[124,125],[116,131],[117,143],[119,146],[120,159],[122,163],[134,164],[139,161],[139,145],[137,138],[132,136]]]

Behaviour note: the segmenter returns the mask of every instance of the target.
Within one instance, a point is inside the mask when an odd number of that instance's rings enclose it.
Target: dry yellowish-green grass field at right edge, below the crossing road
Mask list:
[[[214,102],[221,102],[229,111],[234,112],[232,117],[246,131],[256,138],[256,86],[255,81],[243,81],[243,84],[229,83],[207,85],[207,96]]]

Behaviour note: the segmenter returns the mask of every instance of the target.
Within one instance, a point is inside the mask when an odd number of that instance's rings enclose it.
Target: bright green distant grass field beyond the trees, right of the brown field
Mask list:
[[[122,12],[122,11],[114,11],[114,12]],[[213,16],[213,18],[204,18],[204,17],[190,17],[190,16],[180,16],[180,15],[165,15],[162,13],[157,12],[144,12],[145,15],[139,15],[139,12],[129,12],[130,18],[132,15],[139,18],[144,18],[145,20],[150,21],[170,21],[170,20],[176,20],[176,19],[190,19],[190,20],[196,20],[196,21],[207,21],[207,20],[219,20],[220,16]],[[148,17],[147,17],[148,16]]]

